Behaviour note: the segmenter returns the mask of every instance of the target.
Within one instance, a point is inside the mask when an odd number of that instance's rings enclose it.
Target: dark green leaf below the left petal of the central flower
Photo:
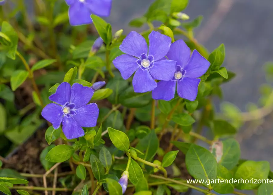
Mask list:
[[[108,97],[108,100],[112,104],[119,104],[119,96],[120,94],[127,88],[128,81],[114,77],[113,79],[109,80],[106,84],[106,87],[113,90],[113,93]]]

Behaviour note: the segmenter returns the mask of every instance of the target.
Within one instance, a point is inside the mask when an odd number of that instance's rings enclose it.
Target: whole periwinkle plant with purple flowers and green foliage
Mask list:
[[[6,161],[3,164],[0,160],[0,191],[8,195],[14,194],[11,188],[21,195],[28,191],[48,195],[57,190],[73,195],[144,195],[192,188],[211,195],[245,195],[239,190],[272,194],[272,184],[211,181],[272,177],[267,161],[240,159],[240,146],[233,136],[246,119],[257,122],[266,116],[259,113],[272,112],[273,90],[267,86],[270,93],[262,97],[267,101],[258,110],[242,114],[231,104],[224,104],[224,115],[215,114],[212,100],[221,98],[221,84],[235,73],[222,67],[223,44],[209,54],[194,39],[193,30],[200,21],[184,21],[190,15],[183,11],[188,0],[155,0],[144,16],[130,22],[132,27],[147,24],[149,29],[127,35],[122,29],[112,33],[111,24],[99,17],[110,15],[112,3],[117,1],[44,1],[35,6],[37,13],[46,7],[35,17],[35,28],[24,7],[18,7],[24,15],[20,21],[12,18],[16,30],[2,22],[0,140],[23,144],[44,122],[43,117],[49,146],[37,149],[43,149],[38,157],[46,172],[38,182],[43,186],[16,185],[28,183],[23,176],[36,178],[32,182],[36,184],[41,174],[11,171],[6,169],[10,167]],[[9,19],[7,13],[13,12],[6,4],[1,13]],[[153,21],[161,24],[155,27]],[[89,36],[90,23],[98,35]],[[86,26],[72,27],[79,25]],[[41,60],[30,67],[26,59],[33,55]],[[265,69],[267,78],[273,78],[272,64]],[[31,82],[23,84],[27,79]],[[20,93],[12,91],[25,86],[29,91],[28,83],[34,103],[16,112],[14,100]],[[205,127],[213,136],[211,140],[202,136]],[[199,146],[197,139],[210,147]],[[187,176],[178,171],[182,165]],[[63,172],[68,167],[71,172]],[[53,169],[54,174],[50,174]],[[49,177],[53,177],[53,187]],[[185,180],[189,177],[200,184]],[[209,184],[201,182],[208,179]]]

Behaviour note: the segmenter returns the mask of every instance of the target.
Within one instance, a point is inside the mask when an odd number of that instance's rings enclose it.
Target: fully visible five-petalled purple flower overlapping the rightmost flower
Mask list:
[[[113,60],[122,78],[128,79],[134,72],[134,91],[144,93],[157,87],[157,80],[171,80],[175,72],[175,62],[164,56],[171,46],[171,38],[152,31],[149,34],[149,53],[146,40],[135,31],[131,31],[120,45],[124,55]],[[148,55],[147,55],[148,54]]]

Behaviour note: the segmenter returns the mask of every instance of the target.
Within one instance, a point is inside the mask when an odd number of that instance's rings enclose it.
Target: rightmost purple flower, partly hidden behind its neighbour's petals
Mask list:
[[[197,50],[194,50],[190,56],[190,48],[183,40],[172,43],[167,57],[176,61],[176,70],[172,80],[157,83],[157,88],[152,91],[153,99],[171,100],[175,96],[177,83],[178,95],[194,101],[201,81],[197,78],[206,73],[210,63]]]

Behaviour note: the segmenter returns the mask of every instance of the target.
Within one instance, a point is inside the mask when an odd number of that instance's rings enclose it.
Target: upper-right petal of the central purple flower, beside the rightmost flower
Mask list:
[[[171,37],[157,31],[152,31],[149,34],[149,55],[153,56],[154,62],[167,55],[171,43]]]

